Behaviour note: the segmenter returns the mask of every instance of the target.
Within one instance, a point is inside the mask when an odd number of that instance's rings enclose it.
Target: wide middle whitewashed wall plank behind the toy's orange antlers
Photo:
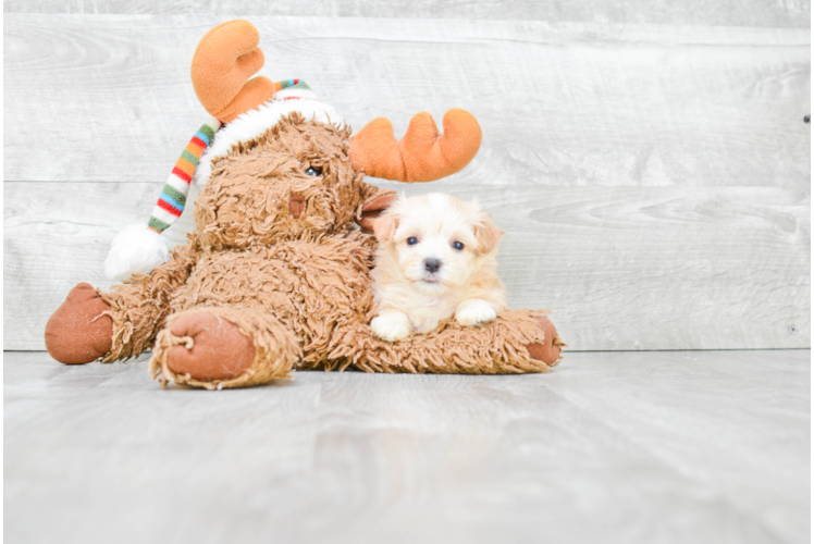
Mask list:
[[[3,180],[161,183],[203,119],[189,62],[220,20],[4,16]],[[470,110],[484,141],[462,175],[482,185],[811,185],[812,29],[252,21],[263,73],[356,129]]]

